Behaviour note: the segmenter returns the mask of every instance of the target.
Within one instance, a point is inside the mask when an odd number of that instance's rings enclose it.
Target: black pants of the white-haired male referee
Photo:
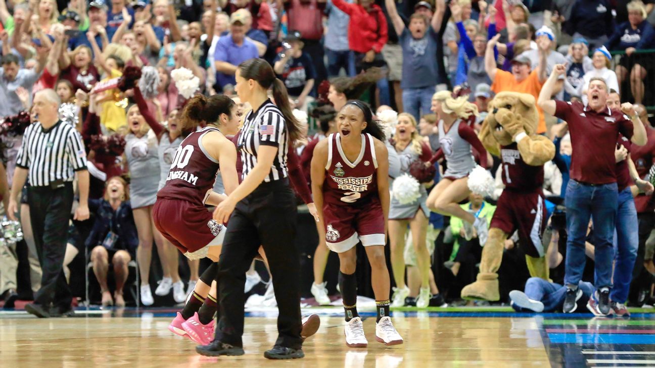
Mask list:
[[[58,189],[30,186],[28,205],[34,244],[43,272],[41,289],[37,291],[34,303],[46,310],[52,303],[64,312],[71,308],[71,290],[63,266],[68,221],[73,207],[73,183],[64,183],[64,187]]]

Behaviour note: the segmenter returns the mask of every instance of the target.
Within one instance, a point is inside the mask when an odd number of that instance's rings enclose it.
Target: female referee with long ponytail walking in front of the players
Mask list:
[[[274,105],[267,96],[272,86]],[[269,359],[303,358],[300,316],[300,261],[293,244],[296,206],[287,179],[289,142],[298,138],[299,123],[291,114],[284,83],[263,59],[250,59],[236,69],[236,93],[250,103],[239,136],[242,183],[214,212],[227,233],[218,262],[221,315],[216,337],[198,346],[204,356],[243,355],[244,284],[259,245],[271,268],[278,303],[278,339],[264,353]],[[231,215],[231,217],[230,217]]]

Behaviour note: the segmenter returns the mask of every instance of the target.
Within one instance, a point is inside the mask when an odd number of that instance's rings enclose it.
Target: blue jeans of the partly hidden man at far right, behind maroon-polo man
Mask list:
[[[618,194],[616,211],[616,242],[614,243],[614,287],[610,298],[616,303],[626,303],[632,281],[632,269],[637,259],[639,232],[635,229],[637,210],[630,187]]]

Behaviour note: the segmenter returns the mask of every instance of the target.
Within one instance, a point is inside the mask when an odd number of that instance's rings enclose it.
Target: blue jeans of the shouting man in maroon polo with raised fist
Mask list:
[[[587,185],[569,180],[564,200],[567,208],[567,285],[578,285],[586,263],[584,244],[587,239],[589,219],[593,221],[595,239],[595,280],[598,289],[612,287],[612,259],[614,259],[614,229],[618,208],[616,183]]]

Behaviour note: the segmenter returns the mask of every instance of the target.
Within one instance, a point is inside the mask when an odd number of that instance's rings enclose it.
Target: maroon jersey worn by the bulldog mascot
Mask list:
[[[500,148],[502,183],[506,189],[533,192],[544,185],[544,166],[531,166],[521,158],[518,145],[512,143]]]

